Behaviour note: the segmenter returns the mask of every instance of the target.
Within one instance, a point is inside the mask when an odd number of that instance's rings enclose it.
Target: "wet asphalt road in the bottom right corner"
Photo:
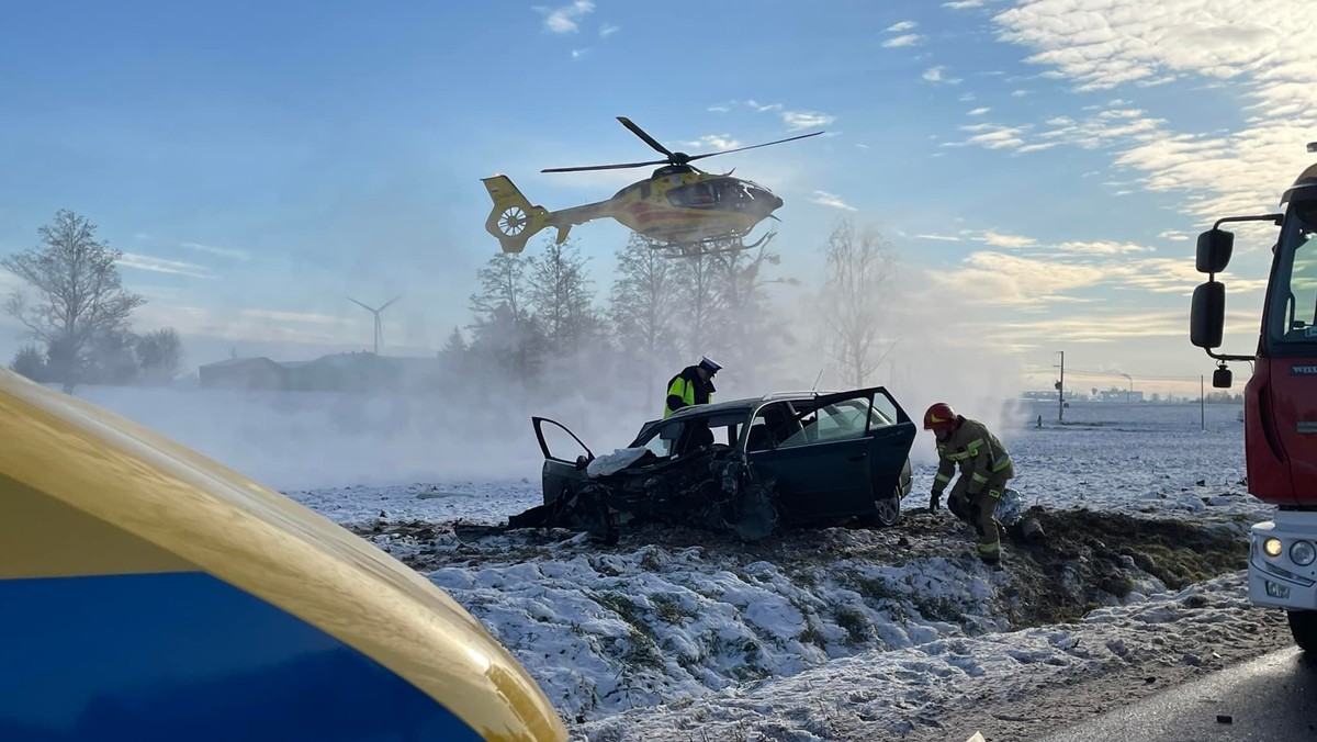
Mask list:
[[[1035,742],[1317,739],[1317,662],[1281,650]]]

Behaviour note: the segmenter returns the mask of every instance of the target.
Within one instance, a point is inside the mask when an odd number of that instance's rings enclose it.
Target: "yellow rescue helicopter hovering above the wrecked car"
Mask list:
[[[520,253],[531,236],[547,227],[557,228],[557,244],[562,244],[572,227],[601,217],[616,219],[632,232],[653,240],[657,246],[674,249],[684,256],[755,248],[768,236],[749,245],[741,240],[764,219],[777,219],[773,211],[782,206],[782,199],[759,183],[732,178],[730,171],[714,175],[690,163],[715,154],[730,154],[823,133],[813,132],[722,152],[686,154],[670,152],[624,116],[618,116],[618,121],[665,158],[541,170],[541,173],[573,173],[662,165],[649,178],[631,183],[607,200],[549,211],[543,206],[531,206],[507,175],[481,179],[494,200],[494,208],[485,220],[485,229],[498,237],[504,253]],[[714,246],[719,249],[711,249]]]

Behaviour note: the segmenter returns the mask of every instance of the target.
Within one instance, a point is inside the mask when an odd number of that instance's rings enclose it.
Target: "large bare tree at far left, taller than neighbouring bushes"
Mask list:
[[[29,306],[21,293],[7,310],[32,339],[46,344],[54,380],[72,391],[96,340],[126,332],[128,320],[146,299],[126,291],[119,277],[122,252],[96,240],[96,225],[68,210],[42,227],[41,245],[4,258],[0,265],[37,293]]]

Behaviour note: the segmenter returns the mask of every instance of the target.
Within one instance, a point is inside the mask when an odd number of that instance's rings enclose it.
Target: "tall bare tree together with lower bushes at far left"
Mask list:
[[[0,261],[26,290],[9,295],[5,311],[26,328],[29,343],[9,368],[38,382],[167,384],[183,364],[174,328],[132,329],[146,303],[124,289],[121,250],[96,239],[96,225],[68,210],[38,229],[41,243]]]

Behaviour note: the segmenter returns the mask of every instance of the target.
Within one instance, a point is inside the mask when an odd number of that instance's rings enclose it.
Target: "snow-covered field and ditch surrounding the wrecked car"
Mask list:
[[[611,548],[568,531],[464,542],[454,521],[495,525],[539,503],[528,420],[431,419],[382,401],[327,413],[295,399],[165,394],[167,405],[142,405],[120,390],[80,393],[279,486],[428,573],[514,652],[582,738],[947,739],[980,728],[1000,734],[989,739],[1027,738],[1081,714],[1076,689],[1087,683],[1125,672],[1164,685],[1287,641],[1274,613],[1247,605],[1237,564],[1177,573],[1166,565],[1173,552],[1141,551],[1173,534],[1122,540],[1112,531],[1105,543],[1054,534],[1079,551],[1044,559],[1008,546],[1005,569],[982,567],[971,530],[946,511],[918,510],[932,474],[927,434],[896,528],[749,546],[673,531],[626,534]],[[1059,424],[1055,403],[1038,405],[1000,434],[1029,503],[1185,519],[1206,534],[1212,548],[1198,551],[1225,554],[1267,507],[1246,493],[1238,407],[1205,414],[1200,422],[1197,405],[1076,403]],[[466,435],[448,432],[468,423]],[[1060,685],[1072,689],[1062,704],[1069,716],[1051,706],[1027,720],[984,713]]]

